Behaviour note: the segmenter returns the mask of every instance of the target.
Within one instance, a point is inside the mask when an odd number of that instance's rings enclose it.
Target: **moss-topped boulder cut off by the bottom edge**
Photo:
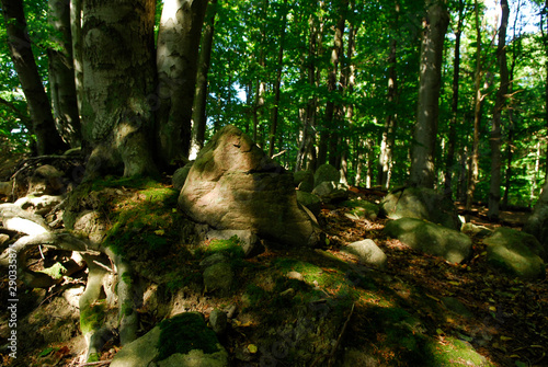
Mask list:
[[[112,367],[226,367],[228,354],[215,332],[197,312],[184,312],[162,321],[144,336],[124,346]]]

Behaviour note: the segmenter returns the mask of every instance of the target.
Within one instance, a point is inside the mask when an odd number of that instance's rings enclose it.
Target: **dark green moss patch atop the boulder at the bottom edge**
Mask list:
[[[201,349],[205,354],[219,352],[215,332],[207,325],[199,313],[186,312],[163,320],[160,323],[161,334],[158,343],[158,360],[172,354],[187,354]]]

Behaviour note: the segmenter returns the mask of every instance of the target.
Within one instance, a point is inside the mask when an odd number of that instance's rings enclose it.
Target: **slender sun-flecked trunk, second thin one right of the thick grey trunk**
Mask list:
[[[469,220],[469,213],[472,208],[473,193],[476,192],[476,184],[479,176],[479,129],[481,122],[481,104],[483,96],[481,95],[481,78],[483,71],[481,68],[481,23],[479,18],[478,0],[475,0],[475,14],[476,14],[476,73],[473,77],[473,136],[472,136],[472,151],[470,157],[470,167],[468,172],[468,187],[466,191],[466,210],[467,221]]]

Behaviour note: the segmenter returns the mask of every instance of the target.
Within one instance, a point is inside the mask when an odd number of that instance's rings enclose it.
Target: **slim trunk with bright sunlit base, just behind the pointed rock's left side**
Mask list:
[[[192,111],[192,145],[190,159],[196,158],[198,151],[204,147],[205,131],[207,126],[207,73],[212,61],[213,36],[215,34],[215,15],[217,14],[217,0],[213,0],[207,8],[208,21],[205,24],[199,47],[198,73],[196,79],[196,94],[194,96],[194,108]]]

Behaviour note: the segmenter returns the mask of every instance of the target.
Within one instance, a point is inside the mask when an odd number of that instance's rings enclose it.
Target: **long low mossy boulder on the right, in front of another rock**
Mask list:
[[[431,255],[460,263],[470,255],[472,241],[464,233],[415,218],[386,223],[385,232],[406,245]]]

